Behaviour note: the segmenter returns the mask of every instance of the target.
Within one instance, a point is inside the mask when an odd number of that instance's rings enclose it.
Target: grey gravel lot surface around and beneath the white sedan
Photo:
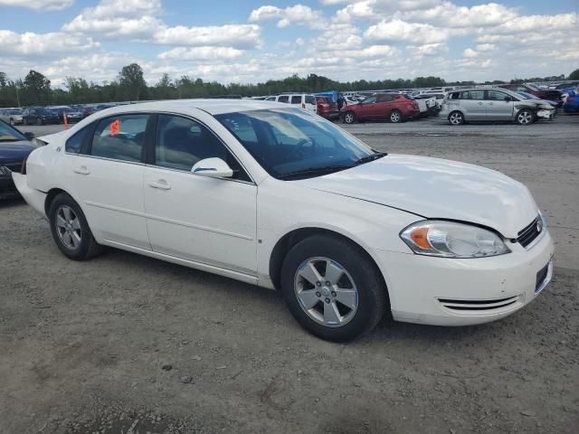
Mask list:
[[[346,129],[378,150],[527,184],[555,238],[551,286],[496,323],[385,320],[330,344],[301,330],[275,292],[120,250],[65,259],[47,222],[4,200],[0,432],[575,433],[579,117]]]

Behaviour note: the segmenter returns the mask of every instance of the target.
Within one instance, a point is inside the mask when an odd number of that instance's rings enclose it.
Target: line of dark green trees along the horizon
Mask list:
[[[579,79],[579,70],[571,73],[569,80]],[[511,83],[524,81],[565,80],[565,75],[514,79]],[[485,81],[479,84],[499,84],[503,81]],[[474,81],[447,82],[440,77],[416,77],[413,80],[356,80],[337,81],[327,77],[309,74],[299,77],[294,74],[282,80],[267,80],[257,84],[231,83],[224,85],[217,81],[204,81],[183,75],[172,79],[163,74],[152,86],[147,86],[143,70],[137,63],[124,66],[115,80],[96,83],[83,78],[67,77],[64,89],[52,88],[48,80],[38,71],[30,71],[23,79],[10,80],[0,71],[0,107],[26,107],[33,105],[70,105],[101,103],[112,101],[138,101],[147,99],[187,99],[209,98],[221,95],[241,95],[253,97],[274,95],[280,92],[319,92],[324,90],[377,90],[412,89],[439,86],[471,86]]]

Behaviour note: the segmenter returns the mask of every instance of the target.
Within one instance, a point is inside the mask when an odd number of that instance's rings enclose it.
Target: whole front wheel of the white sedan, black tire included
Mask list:
[[[281,268],[281,293],[299,325],[333,342],[369,332],[388,306],[384,279],[365,251],[325,234],[308,237],[289,250]]]

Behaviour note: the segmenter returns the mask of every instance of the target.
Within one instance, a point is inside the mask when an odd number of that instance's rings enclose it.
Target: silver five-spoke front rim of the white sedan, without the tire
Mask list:
[[[340,327],[356,315],[356,284],[335,260],[318,257],[303,261],[294,278],[294,292],[302,310],[320,325]]]

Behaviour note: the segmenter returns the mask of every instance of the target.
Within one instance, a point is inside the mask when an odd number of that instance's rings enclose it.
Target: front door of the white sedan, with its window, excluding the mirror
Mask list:
[[[145,167],[147,230],[154,251],[255,274],[257,186],[209,128],[191,118],[159,115],[153,165]],[[218,157],[233,178],[191,173]]]

